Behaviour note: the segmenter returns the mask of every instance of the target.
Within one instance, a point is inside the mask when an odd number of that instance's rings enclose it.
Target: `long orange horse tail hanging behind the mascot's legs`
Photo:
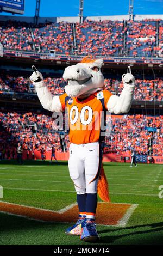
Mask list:
[[[108,181],[106,179],[106,175],[104,173],[103,164],[102,164],[100,174],[99,174],[99,179],[98,179],[98,184],[97,184],[97,193],[102,201],[110,202],[109,186],[108,186]]]

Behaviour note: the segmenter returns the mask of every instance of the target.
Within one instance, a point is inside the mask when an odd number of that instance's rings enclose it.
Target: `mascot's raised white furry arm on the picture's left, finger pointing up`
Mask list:
[[[34,70],[33,74],[30,76],[30,80],[33,82],[36,87],[36,92],[41,102],[43,108],[52,111],[52,112],[61,112],[62,107],[59,100],[59,96],[52,96],[51,92],[49,92],[45,83],[43,82],[42,74],[37,71],[35,66],[32,66]]]

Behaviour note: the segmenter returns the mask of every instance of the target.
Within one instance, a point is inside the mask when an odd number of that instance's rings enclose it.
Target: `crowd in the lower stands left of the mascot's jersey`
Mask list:
[[[0,112],[0,150],[12,152],[17,143],[26,150],[51,150],[55,145],[62,151],[60,136],[53,130],[53,119],[48,115],[34,113]]]

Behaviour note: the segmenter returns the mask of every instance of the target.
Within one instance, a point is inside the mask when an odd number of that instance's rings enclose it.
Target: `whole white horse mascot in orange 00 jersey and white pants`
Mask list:
[[[68,66],[63,78],[67,81],[65,93],[52,96],[43,82],[42,74],[34,70],[33,81],[43,108],[52,112],[68,112],[70,126],[70,157],[68,168],[77,192],[79,219],[66,230],[67,235],[80,235],[83,241],[99,239],[95,214],[97,192],[109,202],[108,183],[102,167],[101,124],[106,111],[127,113],[133,100],[135,78],[131,72],[122,76],[124,88],[120,96],[105,90],[101,72],[102,59],[83,58],[81,63]]]

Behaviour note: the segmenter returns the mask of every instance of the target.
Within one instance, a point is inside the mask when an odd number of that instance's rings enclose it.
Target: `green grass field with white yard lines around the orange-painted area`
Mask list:
[[[163,185],[161,164],[105,163],[111,201],[138,204],[126,227],[98,225],[96,245],[159,245],[163,241]],[[67,162],[1,161],[0,185],[4,202],[59,211],[76,202]],[[51,223],[0,212],[0,245],[85,245],[78,236],[66,236],[68,223]]]

